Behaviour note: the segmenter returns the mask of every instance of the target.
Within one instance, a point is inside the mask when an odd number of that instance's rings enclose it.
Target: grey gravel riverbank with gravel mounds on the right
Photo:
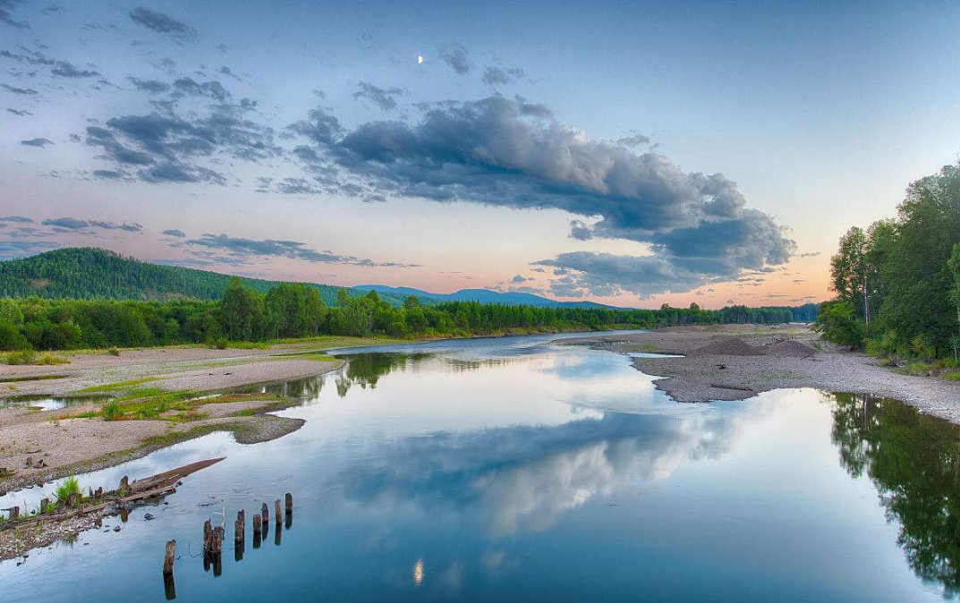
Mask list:
[[[741,340],[756,353],[736,350],[737,346],[728,345],[731,338]],[[782,341],[798,342],[809,351],[799,347],[781,353],[771,350]],[[774,389],[811,387],[897,398],[926,414],[960,423],[960,383],[895,373],[882,366],[882,360],[821,341],[808,326],[681,326],[628,336],[601,334],[563,343],[627,354],[682,354],[633,358],[637,370],[661,376],[657,388],[680,402],[746,399]]]

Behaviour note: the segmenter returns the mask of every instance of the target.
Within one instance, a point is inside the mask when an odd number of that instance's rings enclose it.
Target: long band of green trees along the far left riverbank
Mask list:
[[[504,332],[649,328],[718,323],[779,324],[791,308],[731,306],[705,310],[533,307],[442,302],[424,305],[410,296],[394,306],[371,291],[339,289],[333,305],[317,287],[280,283],[259,293],[232,277],[219,300],[0,299],[0,349],[71,350],[180,343],[226,346],[321,334],[451,337]]]

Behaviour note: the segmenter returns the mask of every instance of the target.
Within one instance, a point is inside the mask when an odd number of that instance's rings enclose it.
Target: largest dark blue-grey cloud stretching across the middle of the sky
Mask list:
[[[325,161],[346,173],[353,188],[437,202],[560,209],[584,218],[574,223],[576,238],[626,239],[650,249],[650,257],[564,254],[548,260],[576,271],[564,283],[573,290],[685,291],[783,263],[794,252],[784,230],[746,207],[736,183],[722,174],[684,172],[657,153],[592,139],[522,99],[447,102],[427,108],[418,124],[375,121],[339,139],[339,122],[319,109],[311,115],[309,124],[335,127],[322,136],[295,128],[314,143],[318,160],[307,165],[316,170]]]

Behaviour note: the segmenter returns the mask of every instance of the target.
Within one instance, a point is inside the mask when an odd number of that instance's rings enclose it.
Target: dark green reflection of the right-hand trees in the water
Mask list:
[[[870,476],[917,575],[960,593],[960,428],[896,400],[830,398],[841,464]]]

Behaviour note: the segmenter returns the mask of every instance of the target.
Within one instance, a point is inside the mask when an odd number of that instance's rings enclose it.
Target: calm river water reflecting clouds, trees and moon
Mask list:
[[[167,505],[0,564],[2,601],[922,601],[960,586],[960,446],[900,403],[815,390],[676,404],[606,351],[546,338],[356,350],[276,386],[300,431],[224,434],[81,479],[226,455]],[[263,500],[292,525],[253,548]],[[39,489],[20,496],[39,495]],[[205,571],[204,519],[247,509]],[[145,513],[156,519],[145,521]],[[272,522],[271,522],[272,523]]]

